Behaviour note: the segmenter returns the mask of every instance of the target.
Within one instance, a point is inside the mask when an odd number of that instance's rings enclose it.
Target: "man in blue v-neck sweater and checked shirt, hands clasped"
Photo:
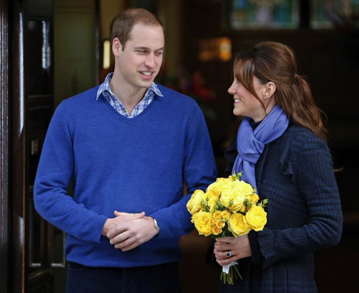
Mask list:
[[[186,203],[217,176],[208,130],[194,100],[153,82],[158,18],[126,10],[112,39],[114,73],[54,113],[35,207],[67,233],[68,293],[180,292],[178,240],[193,229]]]

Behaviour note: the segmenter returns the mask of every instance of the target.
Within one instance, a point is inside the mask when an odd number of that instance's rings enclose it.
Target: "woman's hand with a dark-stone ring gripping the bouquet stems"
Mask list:
[[[230,257],[226,256],[228,252],[231,253]],[[249,245],[248,234],[238,237],[216,238],[214,253],[217,262],[221,266],[230,264],[237,259],[251,256],[252,252]]]

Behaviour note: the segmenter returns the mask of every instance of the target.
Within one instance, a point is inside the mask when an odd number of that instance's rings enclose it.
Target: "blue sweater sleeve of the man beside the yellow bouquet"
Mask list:
[[[194,104],[192,115],[186,123],[183,180],[186,183],[187,192],[180,201],[150,215],[160,225],[160,238],[179,237],[194,229],[186,204],[196,189],[205,190],[217,178],[208,129],[203,113],[197,104]]]

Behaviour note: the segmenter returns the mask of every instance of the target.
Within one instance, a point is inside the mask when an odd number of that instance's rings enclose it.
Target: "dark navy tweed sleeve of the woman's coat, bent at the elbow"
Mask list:
[[[298,142],[297,142],[298,143]],[[298,184],[307,208],[307,223],[299,227],[258,232],[262,267],[336,245],[341,237],[342,213],[332,159],[326,144],[314,135],[296,147],[296,162],[287,172]],[[296,217],[296,207],[291,207]]]

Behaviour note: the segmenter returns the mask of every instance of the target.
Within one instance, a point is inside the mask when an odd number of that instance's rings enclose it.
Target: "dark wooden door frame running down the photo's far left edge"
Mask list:
[[[24,81],[23,7],[0,1],[0,292],[23,293]],[[21,19],[20,19],[21,18]],[[17,204],[15,204],[18,202]]]

